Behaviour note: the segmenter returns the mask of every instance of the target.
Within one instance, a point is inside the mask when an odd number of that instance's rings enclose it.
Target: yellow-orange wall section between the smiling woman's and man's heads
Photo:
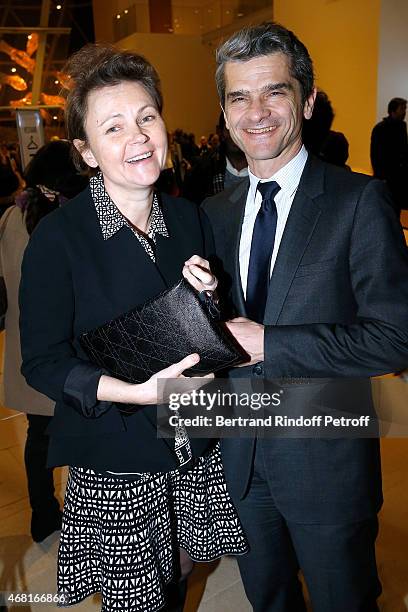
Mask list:
[[[164,118],[170,131],[177,127],[201,135],[215,131],[220,107],[215,88],[214,51],[199,36],[132,34],[118,43],[144,55],[158,71],[163,88]]]

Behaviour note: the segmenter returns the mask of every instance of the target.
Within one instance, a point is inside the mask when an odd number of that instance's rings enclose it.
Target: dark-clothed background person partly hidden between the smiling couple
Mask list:
[[[246,157],[225,127],[224,113],[220,115],[217,132],[220,144],[200,157],[184,182],[183,196],[196,204],[232,185],[238,185],[248,176]]]

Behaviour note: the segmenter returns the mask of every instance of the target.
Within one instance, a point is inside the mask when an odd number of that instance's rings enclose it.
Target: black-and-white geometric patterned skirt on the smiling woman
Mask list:
[[[159,610],[180,547],[194,561],[248,549],[219,447],[189,472],[137,481],[70,468],[58,553],[62,605],[100,592],[102,612]]]

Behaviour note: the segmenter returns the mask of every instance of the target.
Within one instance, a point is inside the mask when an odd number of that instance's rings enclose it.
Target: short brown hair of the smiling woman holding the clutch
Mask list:
[[[65,127],[71,142],[87,142],[85,122],[88,96],[91,91],[118,85],[122,81],[140,83],[152,97],[161,113],[163,98],[160,79],[153,66],[142,56],[121,51],[110,45],[88,44],[74,53],[63,69],[67,75]],[[73,148],[73,160],[78,169],[86,167],[80,153]]]

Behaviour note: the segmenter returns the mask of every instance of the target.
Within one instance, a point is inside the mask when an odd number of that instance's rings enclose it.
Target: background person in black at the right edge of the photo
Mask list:
[[[388,117],[374,127],[371,134],[371,164],[374,176],[388,184],[398,219],[402,208],[408,208],[408,138],[404,121],[407,101],[393,98],[388,103]]]

